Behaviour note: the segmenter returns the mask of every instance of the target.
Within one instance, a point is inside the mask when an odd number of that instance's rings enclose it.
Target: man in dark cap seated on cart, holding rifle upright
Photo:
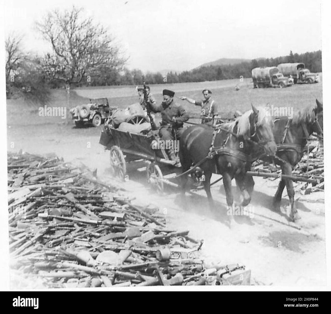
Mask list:
[[[176,166],[180,166],[179,159],[175,155],[173,140],[180,139],[184,131],[183,123],[189,119],[189,115],[181,105],[173,100],[175,94],[173,91],[164,89],[162,94],[164,101],[160,105],[149,102],[148,106],[153,112],[161,112],[162,121],[159,135],[164,141],[170,140],[168,143],[172,143],[172,145],[167,154],[170,160],[176,162]]]

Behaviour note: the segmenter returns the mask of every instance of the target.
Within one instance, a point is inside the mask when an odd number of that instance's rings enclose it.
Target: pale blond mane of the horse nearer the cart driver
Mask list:
[[[272,123],[271,117],[266,114],[266,111],[264,110],[263,107],[257,107],[257,109],[259,110],[257,126],[261,125],[264,122]],[[250,115],[252,113],[253,110],[248,110],[233,122],[229,122],[230,124],[229,127],[231,131],[233,132],[235,126],[237,126],[237,132],[236,132],[237,136],[245,136],[245,135],[249,136],[250,135],[249,132],[251,129]]]

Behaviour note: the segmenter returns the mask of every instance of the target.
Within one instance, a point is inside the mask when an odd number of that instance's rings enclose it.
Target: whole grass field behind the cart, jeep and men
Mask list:
[[[239,91],[235,91],[235,85],[240,87]],[[297,112],[307,106],[313,106],[316,98],[322,101],[322,83],[296,84],[283,89],[253,89],[250,79],[244,79],[244,82],[239,82],[239,80],[221,80],[198,83],[156,84],[150,85],[150,87],[157,103],[163,100],[163,89],[175,91],[175,100],[182,104],[191,116],[199,115],[200,107],[182,101],[179,97],[188,96],[200,100],[202,99],[202,90],[204,88],[212,90],[212,97],[218,104],[222,117],[232,117],[233,112],[236,110],[245,112],[251,108],[251,103],[255,106],[263,107],[267,103],[273,106],[293,107],[294,112]],[[110,106],[117,106],[118,108],[125,108],[130,104],[136,103],[138,99],[135,86],[77,88],[71,92],[71,107],[87,103],[89,98],[99,97],[107,97]],[[65,91],[62,89],[52,90],[52,101],[47,105],[65,107],[66,104]],[[42,105],[26,104],[21,99],[8,100],[7,124],[29,125],[64,122],[64,119],[61,119],[61,117],[40,117],[38,115],[40,106]],[[71,116],[67,115],[67,119],[71,119]]]

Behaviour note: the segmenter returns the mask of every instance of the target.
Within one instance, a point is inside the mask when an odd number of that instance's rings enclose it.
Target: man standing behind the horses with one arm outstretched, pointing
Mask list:
[[[196,106],[201,106],[201,124],[215,125],[219,113],[215,101],[211,98],[212,92],[209,89],[204,89],[202,93],[205,99],[201,101],[196,101],[186,96],[182,96],[180,99],[187,100],[189,103],[195,104]]]

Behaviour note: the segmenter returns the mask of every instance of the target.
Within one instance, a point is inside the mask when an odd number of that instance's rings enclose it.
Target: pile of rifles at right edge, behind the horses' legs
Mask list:
[[[324,191],[324,157],[323,147],[319,146],[317,138],[311,137],[308,141],[301,161],[294,167],[293,176],[304,176],[307,179],[315,179],[315,183],[297,181],[294,183],[296,193],[310,194],[312,192]],[[252,171],[281,174],[280,166],[269,165],[263,161],[256,161]],[[277,178],[269,178],[276,180]]]

